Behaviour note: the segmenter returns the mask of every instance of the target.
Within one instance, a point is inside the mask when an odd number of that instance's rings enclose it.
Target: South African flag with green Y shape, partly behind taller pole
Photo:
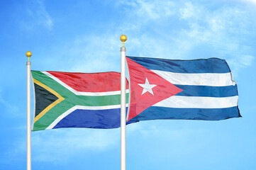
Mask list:
[[[31,74],[35,91],[33,131],[120,127],[120,73],[31,71]],[[128,89],[126,94],[128,98]]]

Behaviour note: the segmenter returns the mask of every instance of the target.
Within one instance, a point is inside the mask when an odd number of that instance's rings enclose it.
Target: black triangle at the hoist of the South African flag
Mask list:
[[[41,113],[51,103],[57,101],[57,96],[44,89],[38,84],[35,85],[35,117]]]

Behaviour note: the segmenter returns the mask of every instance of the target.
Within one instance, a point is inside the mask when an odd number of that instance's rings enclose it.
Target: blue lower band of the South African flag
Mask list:
[[[127,113],[126,108],[126,113]],[[106,110],[84,110],[77,109],[60,120],[56,128],[96,128],[111,129],[120,127],[120,108]],[[127,124],[134,123],[130,121]]]

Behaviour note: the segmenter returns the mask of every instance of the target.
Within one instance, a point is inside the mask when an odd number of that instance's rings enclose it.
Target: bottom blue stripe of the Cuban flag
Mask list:
[[[137,115],[135,120],[185,119],[185,120],[224,120],[241,117],[238,107],[232,108],[165,108],[151,106]]]

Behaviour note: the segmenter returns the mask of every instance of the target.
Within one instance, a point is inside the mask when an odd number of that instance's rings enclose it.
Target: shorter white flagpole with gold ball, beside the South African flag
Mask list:
[[[30,94],[30,67],[29,58],[32,53],[26,52],[28,57],[27,65],[27,170],[31,170],[31,94]]]

